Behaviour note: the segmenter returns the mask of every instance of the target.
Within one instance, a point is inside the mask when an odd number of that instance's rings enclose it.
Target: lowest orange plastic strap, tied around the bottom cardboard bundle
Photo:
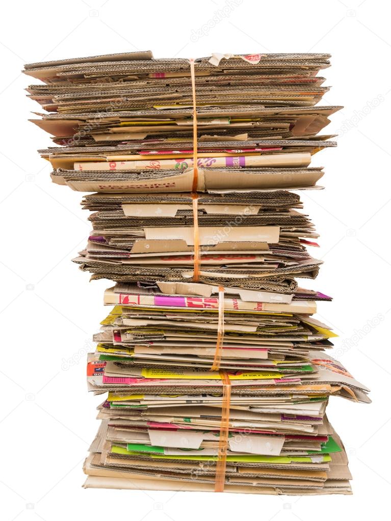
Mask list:
[[[227,466],[227,448],[229,435],[229,407],[231,403],[231,382],[225,371],[220,371],[223,380],[223,404],[221,412],[220,437],[218,440],[215,492],[224,492],[225,470]]]

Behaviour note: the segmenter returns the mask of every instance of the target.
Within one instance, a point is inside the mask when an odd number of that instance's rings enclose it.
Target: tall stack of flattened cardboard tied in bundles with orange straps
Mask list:
[[[339,107],[315,106],[327,54],[150,52],[26,65],[52,180],[89,193],[75,262],[116,285],[88,387],[108,391],[86,487],[350,493],[331,395],[368,389],[325,353],[331,297],[300,196]]]

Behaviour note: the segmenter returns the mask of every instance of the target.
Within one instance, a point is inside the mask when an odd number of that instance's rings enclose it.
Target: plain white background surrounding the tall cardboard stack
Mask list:
[[[213,20],[225,7],[225,17]],[[197,2],[67,0],[3,4],[0,52],[2,256],[0,411],[2,518],[62,521],[192,521],[243,516],[268,521],[379,516],[391,492],[389,299],[389,107],[391,36],[384,1]],[[344,105],[327,132],[337,149],[314,157],[326,190],[301,193],[321,233],[313,255],[326,263],[307,286],[334,296],[320,319],[339,333],[335,356],[372,389],[372,405],[334,398],[328,415],[353,474],[351,497],[84,490],[81,466],[99,398],[85,386],[85,352],[107,309],[107,281],[88,282],[70,262],[89,232],[81,194],[50,181],[36,153],[51,142],[27,119],[24,63],[152,49],[155,57],[211,52],[328,52],[333,89]],[[312,282],[312,284],[311,284]]]

